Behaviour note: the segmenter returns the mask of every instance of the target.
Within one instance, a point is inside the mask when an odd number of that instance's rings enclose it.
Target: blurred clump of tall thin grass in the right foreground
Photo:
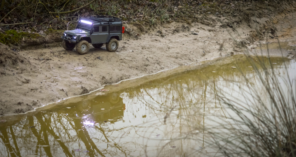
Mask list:
[[[243,89],[241,100],[219,95],[231,109],[227,119],[232,120],[232,125],[222,124],[220,132],[211,132],[213,147],[224,156],[296,156],[295,79],[288,76],[281,82],[269,58],[267,63],[260,57],[247,58],[263,91],[246,77],[247,89]],[[287,67],[285,70],[288,73]]]

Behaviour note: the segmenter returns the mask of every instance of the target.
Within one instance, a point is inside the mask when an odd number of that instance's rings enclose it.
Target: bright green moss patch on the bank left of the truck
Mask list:
[[[34,33],[17,32],[15,30],[7,30],[5,33],[0,33],[0,42],[3,44],[18,44],[26,38],[36,38],[40,36]]]

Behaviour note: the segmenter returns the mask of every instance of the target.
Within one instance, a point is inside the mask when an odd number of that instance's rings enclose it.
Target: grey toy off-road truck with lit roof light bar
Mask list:
[[[62,46],[66,50],[73,50],[83,55],[89,51],[89,43],[100,48],[106,43],[106,49],[114,52],[118,48],[118,41],[122,39],[124,27],[118,17],[91,16],[87,20],[80,20],[74,30],[65,31],[61,37]]]

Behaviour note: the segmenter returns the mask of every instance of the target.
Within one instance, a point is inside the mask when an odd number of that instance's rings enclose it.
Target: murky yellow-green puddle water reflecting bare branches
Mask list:
[[[267,59],[266,57],[264,57]],[[266,60],[267,62],[267,60]],[[295,77],[295,60],[271,58],[276,74]],[[242,56],[234,63],[186,71],[94,98],[0,121],[2,156],[203,156],[227,110],[218,94],[240,99],[246,83],[263,89]],[[118,85],[110,85],[118,86]],[[241,87],[241,88],[239,88]],[[108,87],[106,87],[108,88]],[[261,90],[263,91],[263,90]],[[97,94],[99,93],[99,94]],[[262,98],[266,97],[264,92]],[[229,98],[231,98],[229,97]]]

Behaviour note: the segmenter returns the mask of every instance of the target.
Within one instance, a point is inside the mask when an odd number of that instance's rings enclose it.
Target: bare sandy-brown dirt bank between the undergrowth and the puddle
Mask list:
[[[232,23],[228,17],[212,16],[208,23],[164,24],[145,34],[126,25],[128,33],[116,52],[91,47],[88,54],[78,55],[61,46],[14,51],[0,44],[0,115],[25,113],[120,80],[241,54],[263,37],[295,45],[295,12],[240,23],[231,18]],[[295,50],[284,54],[295,57]]]

